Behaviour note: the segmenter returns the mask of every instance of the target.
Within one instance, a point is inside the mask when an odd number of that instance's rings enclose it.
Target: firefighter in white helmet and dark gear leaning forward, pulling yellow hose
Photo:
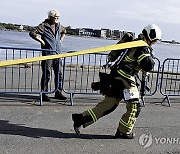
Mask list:
[[[127,38],[126,38],[127,37]],[[126,35],[120,42],[132,40]],[[135,47],[125,50],[111,51],[109,61],[117,61],[111,68],[110,75],[100,74],[100,82],[92,85],[93,89],[100,90],[105,98],[99,102],[94,108],[84,111],[80,114],[72,114],[74,121],[74,130],[80,134],[79,128],[83,128],[96,122],[99,118],[114,111],[119,102],[124,99],[126,102],[126,113],[124,113],[119,121],[119,126],[115,133],[115,138],[133,139],[132,133],[136,118],[138,117],[141,106],[139,103],[139,91],[136,86],[134,76],[142,70],[149,72],[154,67],[151,46],[162,37],[160,28],[155,25],[147,25],[136,40],[143,40],[149,46]],[[124,40],[125,41],[124,41]],[[121,57],[120,53],[124,52]],[[95,84],[95,83],[94,83]],[[97,88],[98,87],[98,88]]]

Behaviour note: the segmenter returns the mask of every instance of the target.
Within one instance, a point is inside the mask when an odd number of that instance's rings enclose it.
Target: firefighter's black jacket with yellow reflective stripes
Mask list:
[[[142,38],[142,36],[139,36]],[[139,40],[139,39],[138,39]],[[125,52],[123,50],[123,52]],[[140,70],[149,72],[154,68],[152,49],[150,47],[135,47],[126,50],[121,61],[117,61],[112,67],[121,77],[135,82],[134,75]]]

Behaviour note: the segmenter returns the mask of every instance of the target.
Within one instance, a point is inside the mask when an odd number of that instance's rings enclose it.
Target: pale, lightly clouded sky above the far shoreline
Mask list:
[[[180,42],[180,0],[1,0],[0,22],[36,26],[49,10],[60,12],[63,26],[107,28],[139,34],[156,24],[162,40]]]

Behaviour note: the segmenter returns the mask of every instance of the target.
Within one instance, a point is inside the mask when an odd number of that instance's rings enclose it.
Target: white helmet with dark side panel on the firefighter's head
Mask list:
[[[155,24],[144,27],[142,33],[145,37],[148,37],[150,41],[161,40],[162,38],[161,29]]]

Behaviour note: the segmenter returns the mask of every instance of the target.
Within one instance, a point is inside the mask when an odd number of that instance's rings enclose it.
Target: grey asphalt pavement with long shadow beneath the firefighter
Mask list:
[[[39,106],[38,96],[0,95],[0,154],[179,154],[179,97],[161,105],[161,95],[146,97],[131,140],[114,139],[122,102],[111,114],[99,119],[82,135],[73,130],[72,113],[94,107],[102,96],[75,95],[70,100],[53,99]],[[68,97],[68,95],[67,95]]]

